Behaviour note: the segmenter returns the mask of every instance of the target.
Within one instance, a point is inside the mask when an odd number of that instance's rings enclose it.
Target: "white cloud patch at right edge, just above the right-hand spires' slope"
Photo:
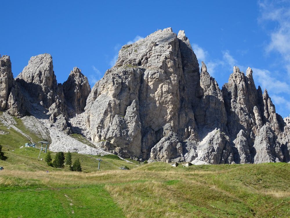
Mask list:
[[[253,77],[261,87],[266,88],[271,93],[290,93],[290,86],[271,76],[269,70],[253,68]]]

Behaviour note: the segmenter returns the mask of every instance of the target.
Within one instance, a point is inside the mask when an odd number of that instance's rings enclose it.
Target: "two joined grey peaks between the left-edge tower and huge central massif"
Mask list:
[[[70,132],[69,118],[84,111],[90,85],[81,70],[75,67],[64,84],[58,84],[50,54],[31,57],[15,81],[29,99],[30,114],[48,118],[61,130]],[[48,117],[40,116],[43,111]]]

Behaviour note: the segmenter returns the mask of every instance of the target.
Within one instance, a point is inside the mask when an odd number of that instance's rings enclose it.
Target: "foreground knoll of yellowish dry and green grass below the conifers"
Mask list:
[[[116,210],[120,212],[119,217],[122,213],[125,217],[290,217],[290,167],[287,163],[175,168],[156,162],[128,171],[91,173],[25,172],[8,168],[0,173],[0,190],[1,196],[6,196],[5,200],[0,199],[0,204],[12,201],[14,196],[23,196],[26,190],[32,196],[40,190],[44,195],[50,192],[56,199],[51,200],[57,202],[56,208],[61,202],[59,214],[64,217],[78,217],[82,208],[86,208],[86,217],[95,217],[95,210],[110,214]],[[113,202],[109,204],[112,207],[92,203],[97,202],[99,192]],[[62,194],[72,199],[80,210],[69,207]],[[7,211],[2,216],[16,217],[22,215],[17,212],[27,210],[26,205],[17,207],[17,211]],[[50,202],[48,207],[52,207]],[[73,215],[71,210],[74,210]],[[33,217],[32,212],[30,217]]]

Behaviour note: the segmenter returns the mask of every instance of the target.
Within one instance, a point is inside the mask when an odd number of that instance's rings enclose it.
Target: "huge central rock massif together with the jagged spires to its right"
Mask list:
[[[251,68],[234,67],[222,90],[184,31],[125,45],[90,93],[84,112],[94,142],[124,157],[193,163],[289,161],[289,123],[276,114]],[[288,123],[288,124],[287,124]]]

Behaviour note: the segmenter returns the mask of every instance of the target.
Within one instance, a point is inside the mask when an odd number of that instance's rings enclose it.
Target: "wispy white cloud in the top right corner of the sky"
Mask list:
[[[280,53],[288,75],[290,76],[290,1],[259,1],[259,23],[264,25],[271,21],[275,28],[270,31],[270,42],[266,51]]]

